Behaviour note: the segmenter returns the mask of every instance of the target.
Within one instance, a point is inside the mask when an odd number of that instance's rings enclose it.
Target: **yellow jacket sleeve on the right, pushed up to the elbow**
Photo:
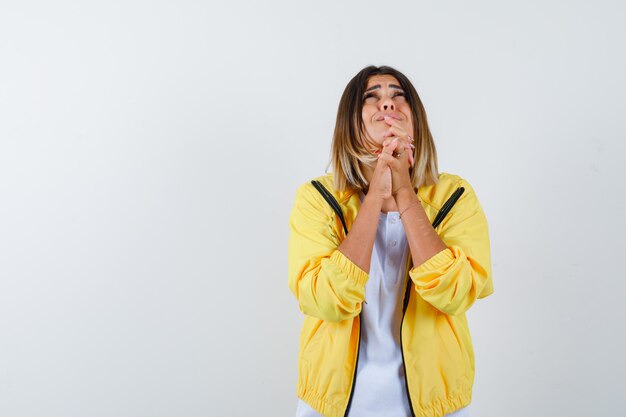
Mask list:
[[[461,179],[458,186],[465,192],[440,225],[447,248],[409,271],[420,297],[449,315],[493,293],[487,219],[471,185]]]

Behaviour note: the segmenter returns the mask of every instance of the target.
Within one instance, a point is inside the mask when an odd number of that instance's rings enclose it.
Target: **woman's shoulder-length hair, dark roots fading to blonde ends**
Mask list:
[[[400,71],[388,66],[371,65],[363,68],[350,80],[339,101],[331,147],[331,161],[328,164],[328,166],[332,164],[333,167],[335,188],[340,191],[356,189],[366,192],[369,187],[363,175],[363,166],[369,165],[373,168],[378,159],[366,148],[362,112],[363,94],[368,79],[373,75],[394,76],[404,90],[406,100],[411,107],[415,165],[409,168],[409,175],[413,187],[436,184],[439,179],[437,151],[428,127],[426,111],[415,87]]]

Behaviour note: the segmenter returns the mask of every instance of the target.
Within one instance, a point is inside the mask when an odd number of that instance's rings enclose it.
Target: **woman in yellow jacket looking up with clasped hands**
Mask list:
[[[439,173],[411,82],[369,66],[346,86],[333,173],[296,191],[289,288],[304,313],[297,417],[469,416],[465,312],[493,293],[487,221],[470,184]],[[433,221],[459,188],[444,220]]]

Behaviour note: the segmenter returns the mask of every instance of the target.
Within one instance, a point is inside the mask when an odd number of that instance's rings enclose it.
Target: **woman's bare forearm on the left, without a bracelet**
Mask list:
[[[382,199],[366,195],[350,232],[337,248],[368,274],[382,206]]]

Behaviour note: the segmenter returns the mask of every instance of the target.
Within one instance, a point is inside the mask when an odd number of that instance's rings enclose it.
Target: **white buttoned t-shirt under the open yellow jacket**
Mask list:
[[[363,201],[363,194],[359,197]],[[365,301],[354,393],[348,417],[411,416],[407,398],[400,322],[408,242],[400,213],[380,213]],[[467,407],[447,417],[469,417]],[[296,417],[322,417],[298,399]]]

